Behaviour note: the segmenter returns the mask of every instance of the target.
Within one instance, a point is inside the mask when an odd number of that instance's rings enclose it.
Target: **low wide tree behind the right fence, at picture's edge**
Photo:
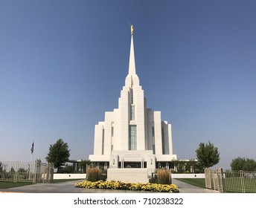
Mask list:
[[[230,163],[231,170],[244,170],[244,171],[256,171],[256,162],[255,160],[237,157],[232,160]]]

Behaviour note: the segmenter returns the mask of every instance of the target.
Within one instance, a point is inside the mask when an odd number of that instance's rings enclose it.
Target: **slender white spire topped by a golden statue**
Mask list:
[[[129,49],[129,71],[126,79],[126,85],[132,88],[132,85],[139,85],[138,75],[135,68],[135,55],[133,46],[133,25],[131,27],[131,46]]]

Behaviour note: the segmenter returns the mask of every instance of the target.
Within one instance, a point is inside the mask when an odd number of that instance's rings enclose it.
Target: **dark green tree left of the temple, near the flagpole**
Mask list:
[[[54,145],[50,145],[48,155],[45,159],[48,163],[53,163],[54,168],[57,168],[57,172],[60,172],[61,166],[68,162],[69,152],[68,143],[64,143],[62,139],[59,139]]]

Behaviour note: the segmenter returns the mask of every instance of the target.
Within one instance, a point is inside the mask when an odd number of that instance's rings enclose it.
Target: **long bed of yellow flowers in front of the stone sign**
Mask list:
[[[77,188],[86,189],[121,189],[151,192],[179,192],[176,185],[157,183],[124,183],[121,181],[83,181],[75,184]]]

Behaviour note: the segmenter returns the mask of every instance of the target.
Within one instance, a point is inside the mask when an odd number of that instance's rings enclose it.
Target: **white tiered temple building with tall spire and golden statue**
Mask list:
[[[89,160],[109,168],[167,168],[172,160],[171,125],[161,120],[161,111],[147,108],[135,68],[133,27],[129,71],[121,90],[118,108],[105,112],[105,120],[95,125],[94,154]]]

